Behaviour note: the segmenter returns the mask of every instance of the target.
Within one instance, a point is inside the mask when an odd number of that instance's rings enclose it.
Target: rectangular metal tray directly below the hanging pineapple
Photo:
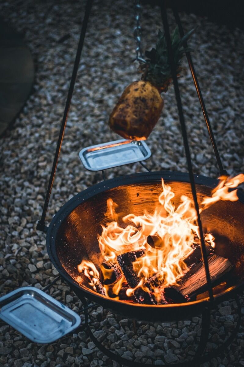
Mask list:
[[[80,151],[79,157],[89,171],[143,161],[151,157],[151,151],[144,141],[116,140],[88,146]]]

